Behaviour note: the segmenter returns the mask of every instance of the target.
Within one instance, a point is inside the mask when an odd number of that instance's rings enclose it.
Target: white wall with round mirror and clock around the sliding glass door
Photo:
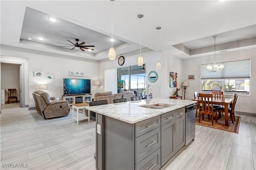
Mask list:
[[[119,56],[117,56],[118,58]],[[136,65],[138,54],[130,55],[125,57],[124,65],[121,67],[126,67],[129,65]],[[153,97],[164,97],[168,98],[170,96],[170,92],[176,90],[176,88],[170,88],[170,71],[176,72],[178,74],[178,88],[182,83],[182,59],[170,55],[168,53],[161,52],[161,56],[158,56],[158,52],[156,51],[148,51],[142,53],[143,61],[146,64],[146,87],[148,84],[152,86]],[[162,68],[160,70],[156,69],[156,62],[160,61]],[[104,79],[104,70],[111,68],[118,68],[117,60],[107,60],[106,62],[100,63],[100,77]],[[150,83],[148,81],[148,73],[150,71],[156,71],[158,73],[158,80],[154,83]],[[104,82],[104,81],[102,81]],[[181,90],[179,94],[182,95]]]

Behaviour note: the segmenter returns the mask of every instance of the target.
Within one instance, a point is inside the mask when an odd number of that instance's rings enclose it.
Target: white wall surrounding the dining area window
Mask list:
[[[250,96],[239,95],[235,111],[256,113],[256,50],[246,49],[241,51],[233,51],[229,53],[216,54],[216,62],[238,61],[243,59],[251,59],[251,80],[250,80]],[[194,57],[182,60],[182,77],[187,80],[189,87],[186,89],[186,99],[194,99],[194,91],[201,91],[201,64],[213,63],[214,55]],[[225,69],[225,68],[224,68]],[[188,80],[188,75],[195,75],[195,80]],[[232,98],[233,95],[225,95]]]

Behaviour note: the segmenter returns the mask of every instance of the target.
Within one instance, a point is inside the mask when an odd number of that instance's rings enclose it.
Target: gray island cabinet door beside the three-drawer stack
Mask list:
[[[161,126],[161,166],[174,156],[174,121]]]

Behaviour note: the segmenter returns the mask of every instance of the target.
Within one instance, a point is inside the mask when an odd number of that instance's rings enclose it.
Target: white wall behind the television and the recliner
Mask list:
[[[25,52],[24,52],[25,51]],[[91,79],[91,93],[94,96],[96,86],[94,80],[98,80],[98,61],[79,61],[74,57],[67,59],[66,56],[55,55],[51,53],[42,53],[34,50],[15,51],[15,49],[4,49],[1,47],[1,61],[13,61],[16,59],[28,58],[25,75],[28,75],[28,89],[25,89],[27,96],[26,103],[29,107],[35,107],[32,93],[39,89],[40,84],[46,84],[45,90],[50,96],[59,97],[63,95],[63,78]],[[27,51],[27,52],[26,52]],[[15,57],[14,57],[15,56]],[[13,58],[13,59],[12,59]],[[69,70],[83,71],[84,77],[69,76]],[[42,71],[45,74],[53,75],[54,80],[48,80],[41,77],[34,77],[34,71]],[[28,102],[27,102],[28,101]]]

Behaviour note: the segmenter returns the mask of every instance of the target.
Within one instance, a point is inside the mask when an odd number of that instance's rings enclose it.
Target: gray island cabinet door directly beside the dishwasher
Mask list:
[[[174,150],[178,152],[185,145],[185,115],[174,120]]]

